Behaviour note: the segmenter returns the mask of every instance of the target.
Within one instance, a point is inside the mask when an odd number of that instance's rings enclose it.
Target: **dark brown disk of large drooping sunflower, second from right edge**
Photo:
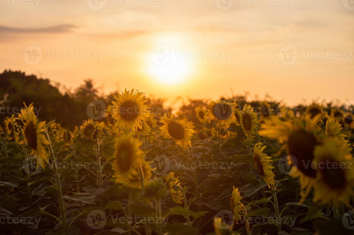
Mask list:
[[[311,168],[311,163],[314,158],[313,151],[316,144],[315,136],[308,133],[306,130],[293,132],[288,140],[289,153],[296,158],[297,168],[303,174],[312,178],[316,177],[316,170]]]

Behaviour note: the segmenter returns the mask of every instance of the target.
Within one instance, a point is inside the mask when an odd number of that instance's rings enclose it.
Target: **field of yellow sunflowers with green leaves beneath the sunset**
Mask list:
[[[354,234],[352,106],[157,112],[125,89],[66,129],[34,105],[0,129],[0,234]]]

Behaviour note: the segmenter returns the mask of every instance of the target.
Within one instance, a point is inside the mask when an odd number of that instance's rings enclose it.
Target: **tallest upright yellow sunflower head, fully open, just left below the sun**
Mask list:
[[[142,92],[135,92],[134,89],[127,91],[118,96],[113,95],[117,101],[112,101],[112,114],[116,121],[116,125],[124,131],[136,130],[142,128],[142,121],[149,118],[150,111],[145,103],[145,96]]]

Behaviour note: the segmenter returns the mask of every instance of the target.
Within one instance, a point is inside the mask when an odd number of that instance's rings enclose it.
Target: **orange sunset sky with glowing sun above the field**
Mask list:
[[[354,99],[352,0],[21,1],[0,0],[1,72],[170,101]]]

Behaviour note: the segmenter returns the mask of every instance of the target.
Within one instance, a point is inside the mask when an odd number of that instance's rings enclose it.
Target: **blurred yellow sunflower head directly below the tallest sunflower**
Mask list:
[[[117,183],[133,180],[137,168],[144,163],[144,153],[140,149],[141,144],[139,140],[133,138],[133,134],[123,134],[121,137],[116,137],[112,166]]]

